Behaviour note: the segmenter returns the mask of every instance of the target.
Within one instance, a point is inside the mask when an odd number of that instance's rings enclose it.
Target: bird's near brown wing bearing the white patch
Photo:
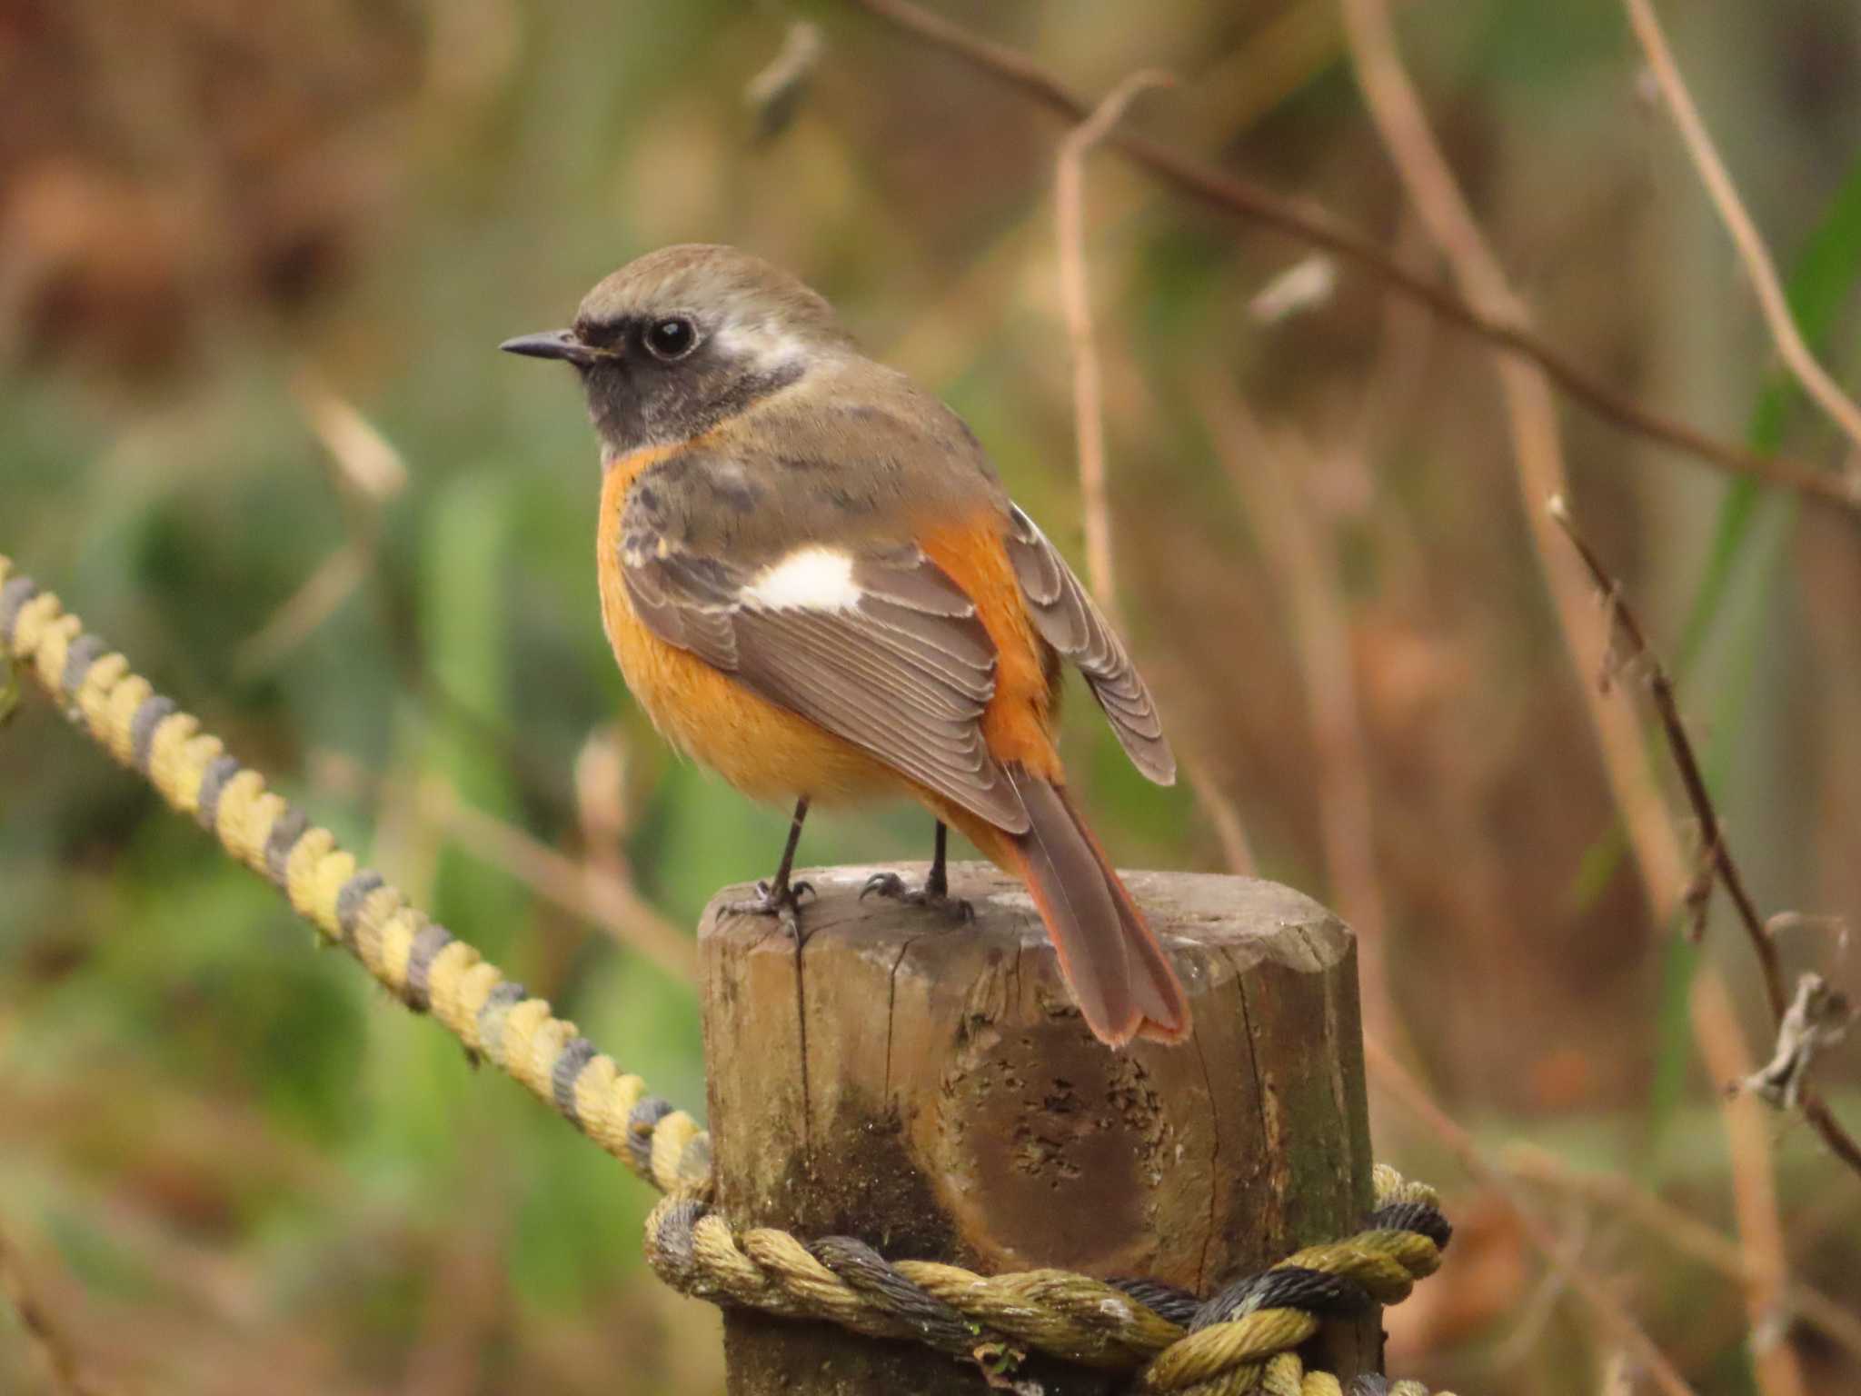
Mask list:
[[[622,534],[627,594],[663,640],[997,828],[1027,830],[1027,812],[983,741],[994,642],[975,605],[923,553],[802,545],[761,566],[733,564],[683,547],[633,506]],[[813,575],[782,571],[798,555],[810,555]]]

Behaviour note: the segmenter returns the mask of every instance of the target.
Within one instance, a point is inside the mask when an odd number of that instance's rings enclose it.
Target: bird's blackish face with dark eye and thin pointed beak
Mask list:
[[[726,354],[687,311],[582,318],[573,329],[512,339],[502,348],[573,363],[610,456],[689,441],[804,372],[798,357],[769,369]]]

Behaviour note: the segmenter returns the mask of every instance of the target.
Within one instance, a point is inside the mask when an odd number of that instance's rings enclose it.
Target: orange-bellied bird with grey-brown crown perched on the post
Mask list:
[[[1182,981],[1055,745],[1070,663],[1169,785],[1156,702],[964,421],[865,357],[821,294],[726,246],[646,253],[568,329],[501,348],[571,365],[586,393],[601,620],[627,687],[683,754],[795,812],[776,875],[733,910],[800,942],[808,810],[903,795],[936,819],[929,875],[878,873],[862,895],[966,918],[955,826],[1025,882],[1100,1040],[1187,1039]]]

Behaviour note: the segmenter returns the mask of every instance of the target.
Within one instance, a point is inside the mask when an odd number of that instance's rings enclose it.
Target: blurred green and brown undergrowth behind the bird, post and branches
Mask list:
[[[1442,275],[1334,0],[938,4],[1085,93],[1169,69],[1135,125]],[[1666,9],[1805,331],[1861,385],[1861,9]],[[1398,22],[1543,335],[1716,437],[1833,465],[1615,0]],[[495,346],[636,253],[744,246],[955,404],[1078,558],[1061,134],[839,0],[0,0],[0,551],[698,1107],[689,927],[769,871],[785,815],[629,702],[579,393]],[[1491,350],[1113,154],[1087,207],[1120,603],[1202,787],[1145,785],[1074,702],[1100,834],[1355,919],[1379,1037],[1701,1392],[1861,1389],[1861,1180],[1787,1115],[1762,1117],[1755,1210],[1731,1165],[1688,1000],[1721,975],[1768,1057],[1751,949],[1723,905],[1699,949],[1649,912]],[[1855,517],[1560,411],[1578,517],[1679,676],[1761,908],[1855,923]],[[927,847],[912,810],[817,817],[804,860]],[[1792,983],[1854,992],[1844,946],[1781,933]],[[1850,1128],[1857,1070],[1855,1044],[1820,1068]],[[1600,1390],[1608,1333],[1372,1085],[1379,1156],[1459,1225],[1388,1316],[1392,1370]],[[651,1201],[313,953],[47,704],[0,732],[0,1232],[100,1389],[718,1392],[715,1312],[638,1258]],[[1777,1253],[1820,1320],[1747,1295]],[[0,1312],[15,1390],[54,1387]]]

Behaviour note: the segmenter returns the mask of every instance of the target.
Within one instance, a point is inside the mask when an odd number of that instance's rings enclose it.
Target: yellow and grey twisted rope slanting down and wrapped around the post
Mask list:
[[[888,1262],[850,1236],[804,1242],[767,1227],[737,1230],[711,1208],[711,1137],[689,1113],[648,1094],[545,1000],[361,867],[0,555],[4,663],[28,672],[74,726],[281,888],[298,916],[395,998],[430,1013],[467,1054],[521,1081],[666,1193],[648,1217],[646,1255],[681,1294],[910,1338],[977,1362],[992,1385],[1027,1353],[1044,1353],[1133,1372],[1137,1396],[1344,1396],[1336,1377],[1305,1370],[1295,1349],[1325,1318],[1399,1303],[1440,1264],[1452,1228],[1433,1189],[1386,1167],[1375,1171],[1364,1230],[1306,1247],[1206,1301],[1154,1281],[1063,1269],[977,1275],[929,1260]],[[0,696],[6,691],[0,681]],[[1351,1396],[1427,1392],[1412,1381],[1359,1377]]]

